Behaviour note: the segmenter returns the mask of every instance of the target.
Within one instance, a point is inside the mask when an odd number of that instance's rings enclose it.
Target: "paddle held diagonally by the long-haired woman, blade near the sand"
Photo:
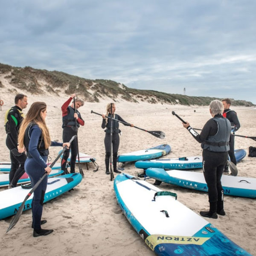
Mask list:
[[[71,143],[74,139],[76,138],[76,135],[74,135],[71,140],[69,141],[69,143]],[[52,162],[52,164],[50,165],[50,168],[52,168],[52,166],[55,165],[55,163],[57,162],[57,160],[61,157],[61,155],[64,153],[64,151],[67,149],[67,146],[65,146],[58,154],[58,156],[55,158],[55,160]],[[14,216],[14,218],[12,219],[6,233],[11,230],[15,224],[19,221],[19,218],[20,218],[20,215],[22,214],[23,212],[23,208],[24,208],[24,205],[27,201],[27,199],[32,195],[32,193],[35,191],[35,189],[37,189],[37,187],[40,185],[40,183],[44,180],[44,178],[47,176],[47,172],[44,173],[44,175],[41,177],[40,180],[38,180],[37,183],[35,183],[35,186],[33,186],[33,188],[29,191],[29,193],[26,195],[24,201],[22,202],[22,204],[20,205],[16,215]]]

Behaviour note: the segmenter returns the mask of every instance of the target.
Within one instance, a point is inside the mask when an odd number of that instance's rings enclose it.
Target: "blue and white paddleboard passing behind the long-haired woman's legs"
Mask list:
[[[79,173],[49,178],[44,195],[44,203],[73,189],[81,180],[82,176]],[[23,189],[21,186],[0,191],[0,219],[15,215],[29,191],[30,189]],[[31,208],[33,195],[34,193],[26,201],[23,211]]]

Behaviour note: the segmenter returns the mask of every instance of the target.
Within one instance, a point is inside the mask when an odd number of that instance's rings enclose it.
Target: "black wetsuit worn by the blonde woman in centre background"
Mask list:
[[[111,114],[108,114],[108,117],[111,117]],[[121,132],[119,130],[119,122],[115,121],[119,120],[122,122],[125,122],[124,119],[122,119],[121,116],[114,114],[113,117],[113,123],[112,123],[112,154],[113,154],[113,169],[116,171],[116,163],[117,163],[117,152],[119,148],[119,133]],[[127,123],[127,122],[125,122]],[[130,126],[129,123],[124,124],[126,126]],[[104,139],[105,144],[105,164],[106,164],[106,172],[109,171],[109,159],[110,159],[110,152],[111,152],[111,119],[108,119],[108,122],[106,122],[106,119],[102,119],[102,129],[107,128],[105,130],[106,135]]]

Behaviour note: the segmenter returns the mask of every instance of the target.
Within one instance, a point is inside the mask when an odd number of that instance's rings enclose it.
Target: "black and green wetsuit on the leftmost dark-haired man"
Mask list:
[[[24,174],[24,163],[26,161],[26,154],[19,153],[17,150],[18,144],[18,132],[20,129],[20,124],[23,120],[22,109],[18,106],[12,107],[8,112],[6,112],[6,146],[10,150],[11,158],[11,169],[9,173],[9,186],[15,187],[18,180]]]

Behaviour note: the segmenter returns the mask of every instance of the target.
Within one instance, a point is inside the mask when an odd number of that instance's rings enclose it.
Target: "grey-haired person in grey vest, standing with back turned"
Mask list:
[[[229,139],[231,134],[230,121],[222,116],[224,107],[221,101],[215,99],[209,105],[212,118],[207,121],[201,134],[198,134],[189,123],[183,126],[201,143],[203,148],[203,172],[208,186],[209,211],[201,211],[200,215],[208,218],[218,218],[225,215],[223,205],[223,189],[221,176],[227,163]]]

